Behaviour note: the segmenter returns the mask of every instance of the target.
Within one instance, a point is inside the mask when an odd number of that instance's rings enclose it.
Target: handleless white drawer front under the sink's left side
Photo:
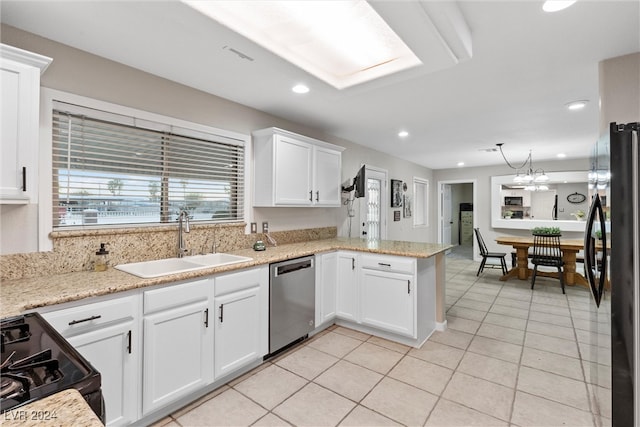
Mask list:
[[[144,314],[167,308],[206,301],[213,287],[213,279],[170,285],[144,293]]]

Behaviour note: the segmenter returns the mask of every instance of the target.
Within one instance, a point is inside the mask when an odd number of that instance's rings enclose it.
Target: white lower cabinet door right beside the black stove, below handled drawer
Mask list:
[[[106,425],[129,425],[138,419],[140,375],[134,347],[137,324],[133,321],[71,337],[68,341],[99,372],[106,408]]]

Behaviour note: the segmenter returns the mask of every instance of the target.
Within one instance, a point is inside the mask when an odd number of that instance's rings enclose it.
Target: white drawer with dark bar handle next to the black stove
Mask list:
[[[42,313],[42,317],[62,336],[70,337],[109,323],[133,319],[137,313],[138,296],[131,295]]]

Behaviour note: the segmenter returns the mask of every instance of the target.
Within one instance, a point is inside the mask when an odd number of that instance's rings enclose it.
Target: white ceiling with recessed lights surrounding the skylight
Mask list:
[[[424,32],[416,1],[386,2],[403,37]],[[433,6],[433,2],[428,3]],[[177,1],[2,0],[11,26],[236,101],[432,169],[507,157],[583,158],[598,137],[598,62],[640,51],[640,2],[461,1],[472,57],[339,91]],[[386,17],[385,17],[386,18]],[[394,24],[392,23],[392,26]],[[405,40],[406,41],[406,40]],[[419,46],[412,46],[417,47]],[[236,49],[253,61],[232,53]],[[295,83],[311,88],[291,92]],[[582,111],[565,104],[586,99]],[[405,140],[397,132],[406,129]]]

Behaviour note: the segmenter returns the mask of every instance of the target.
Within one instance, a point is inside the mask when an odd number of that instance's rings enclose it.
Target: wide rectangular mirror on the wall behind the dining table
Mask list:
[[[549,180],[536,188],[515,183],[514,175],[491,177],[491,226],[584,231],[591,201],[588,172],[548,172],[547,176]]]

